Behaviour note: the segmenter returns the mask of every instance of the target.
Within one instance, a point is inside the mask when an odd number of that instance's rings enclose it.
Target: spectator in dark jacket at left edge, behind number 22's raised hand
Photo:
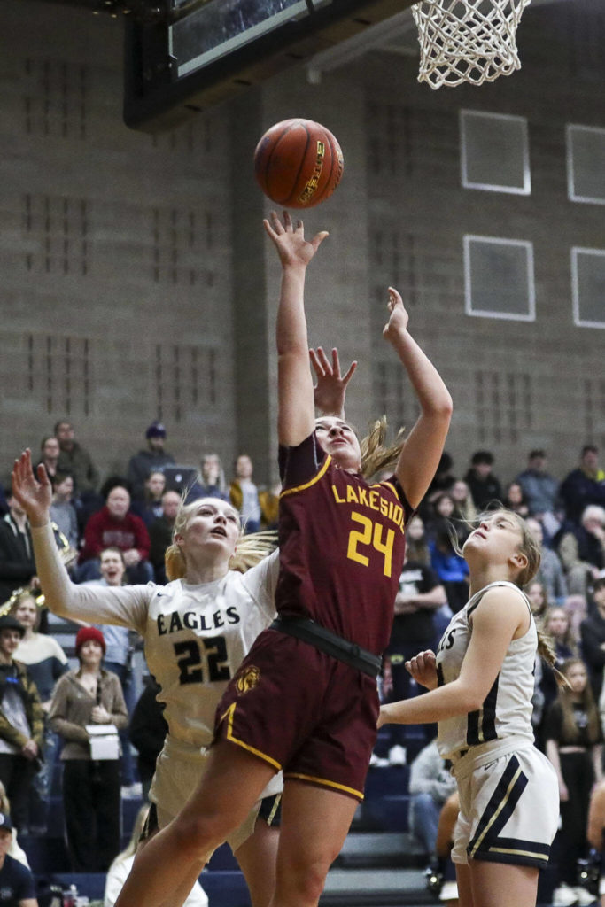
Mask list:
[[[0,605],[16,589],[39,588],[29,522],[21,504],[8,498],[9,511],[0,520]]]

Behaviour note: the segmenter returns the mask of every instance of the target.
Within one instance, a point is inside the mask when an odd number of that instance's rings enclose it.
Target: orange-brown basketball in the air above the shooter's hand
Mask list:
[[[328,199],[344,166],[335,137],[312,120],[276,123],[254,152],[254,172],[261,190],[283,208],[313,208]]]

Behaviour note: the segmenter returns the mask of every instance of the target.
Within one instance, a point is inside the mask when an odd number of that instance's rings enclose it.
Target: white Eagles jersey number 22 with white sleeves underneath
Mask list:
[[[197,586],[74,586],[70,615],[141,633],[170,736],[199,749],[212,741],[229,679],[275,617],[278,567],[274,551],[246,573]]]

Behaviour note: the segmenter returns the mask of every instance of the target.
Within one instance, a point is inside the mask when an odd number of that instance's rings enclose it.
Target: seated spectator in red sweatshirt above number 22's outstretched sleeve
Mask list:
[[[78,580],[101,579],[101,552],[119,548],[131,583],[153,580],[148,561],[151,542],[141,517],[130,512],[131,496],[123,485],[114,485],[107,494],[105,506],[86,523],[84,547],[80,554]]]

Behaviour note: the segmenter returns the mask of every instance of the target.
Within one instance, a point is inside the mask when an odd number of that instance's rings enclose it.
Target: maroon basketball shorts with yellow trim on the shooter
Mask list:
[[[285,779],[363,800],[378,708],[375,679],[267,629],[220,701],[216,736],[283,769]]]

